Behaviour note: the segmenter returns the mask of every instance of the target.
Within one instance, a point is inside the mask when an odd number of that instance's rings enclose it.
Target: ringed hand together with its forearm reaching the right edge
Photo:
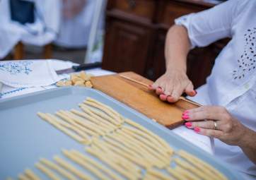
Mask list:
[[[256,132],[235,119],[224,107],[203,106],[183,113],[187,128],[204,136],[219,138],[228,145],[238,145],[245,155],[256,164]],[[207,119],[204,121],[204,119]],[[209,120],[211,119],[211,120]],[[217,128],[214,127],[214,121]]]

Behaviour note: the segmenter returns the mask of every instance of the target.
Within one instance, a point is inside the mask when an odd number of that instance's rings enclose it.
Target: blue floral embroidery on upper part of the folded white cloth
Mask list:
[[[32,72],[32,69],[30,68],[31,64],[33,64],[33,61],[1,62],[0,71],[5,71],[12,75],[21,73],[28,75]]]

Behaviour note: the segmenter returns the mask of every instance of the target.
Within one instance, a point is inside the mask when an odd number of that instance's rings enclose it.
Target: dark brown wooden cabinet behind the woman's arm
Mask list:
[[[202,0],[109,0],[103,68],[134,71],[156,80],[165,72],[165,35],[175,18],[212,6]],[[205,83],[214,59],[226,42],[190,52],[187,74],[195,87]]]

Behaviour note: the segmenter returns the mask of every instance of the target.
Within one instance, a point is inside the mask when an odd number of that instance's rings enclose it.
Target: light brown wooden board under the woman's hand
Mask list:
[[[142,83],[153,83],[151,80],[136,73],[125,72],[110,76],[92,77],[93,88],[114,97],[116,100],[127,104],[129,107],[168,128],[175,128],[183,124],[182,112],[185,109],[197,107],[197,105],[183,100],[179,100],[174,104],[163,102],[158,98],[158,95],[148,90],[144,85],[122,78],[120,74]]]

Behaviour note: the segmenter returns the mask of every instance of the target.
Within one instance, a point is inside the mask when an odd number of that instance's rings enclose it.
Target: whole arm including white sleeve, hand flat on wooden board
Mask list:
[[[196,92],[186,75],[190,47],[205,47],[223,37],[231,37],[238,0],[226,1],[214,8],[182,16],[175,20],[165,42],[166,72],[149,89],[156,90],[161,100],[176,102],[183,92]],[[228,9],[228,11],[226,11]]]

